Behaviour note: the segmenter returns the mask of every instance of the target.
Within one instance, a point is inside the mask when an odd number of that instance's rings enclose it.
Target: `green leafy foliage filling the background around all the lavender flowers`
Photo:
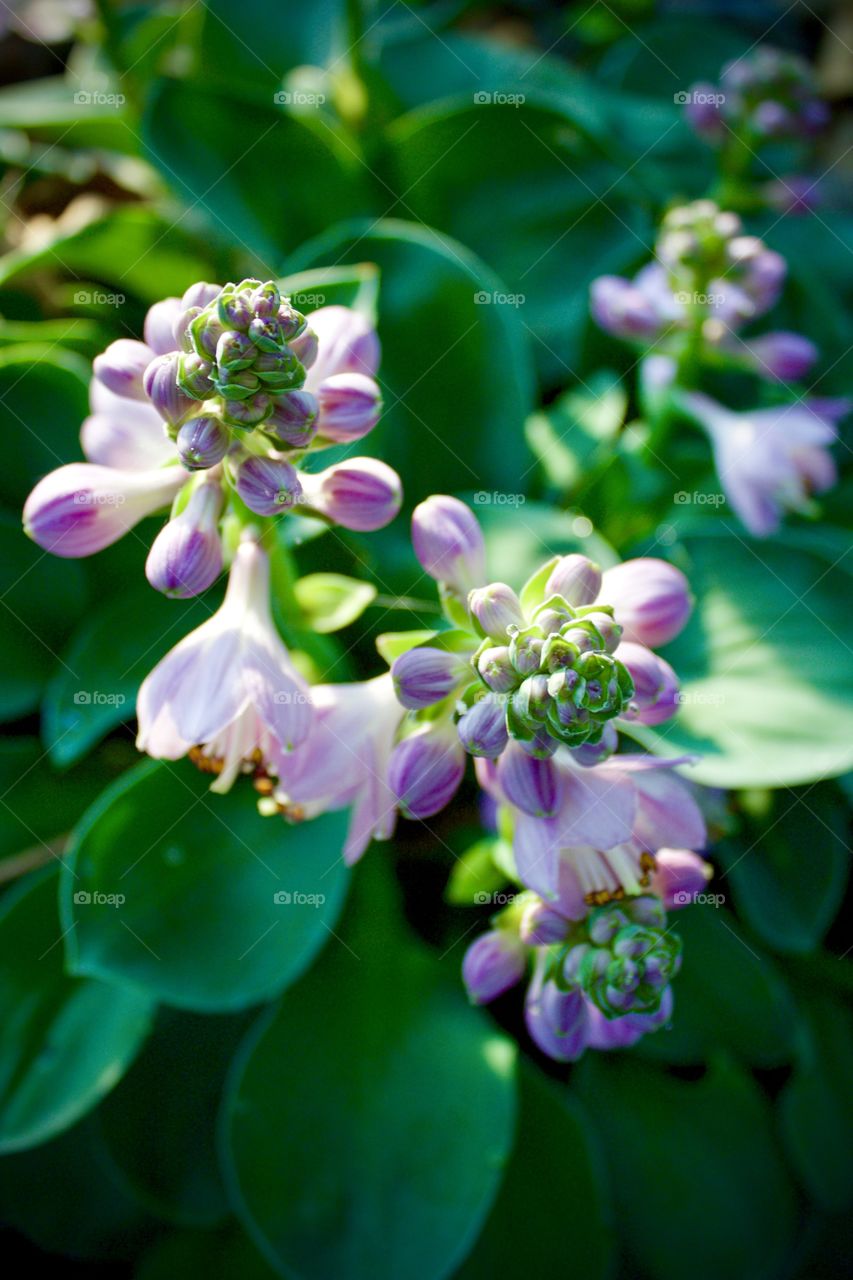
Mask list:
[[[849,15],[821,0],[6,9],[0,1211],[15,1265],[840,1275],[849,468],[821,520],[772,543],[680,506],[715,484],[707,449],[685,428],[661,468],[642,463],[633,357],[592,324],[588,285],[647,261],[661,212],[712,183],[676,95],[765,37],[798,49],[835,108],[812,159],[824,200],[748,227],[789,261],[779,319],[820,346],[818,393],[849,392]],[[768,155],[767,179],[788,160]],[[471,905],[474,788],[355,877],[338,865],[323,909],[293,908],[286,929],[270,884],[316,890],[343,815],[273,826],[247,791],[207,801],[190,765],[133,749],[141,678],[210,602],[151,591],[145,529],[83,562],[19,531],[35,480],[81,457],[92,356],[138,335],[158,298],[250,274],[375,305],[370,449],[409,507],[471,499],[498,576],[575,549],[690,576],[695,616],[669,654],[685,704],[644,741],[702,755],[725,906],[681,913],[674,1025],[628,1053],[558,1069],[517,1000],[465,1005],[459,964],[488,916]],[[406,520],[319,532],[292,522],[300,571],[375,591],[357,617],[329,603],[328,635],[310,614],[282,630],[318,678],[375,675],[378,635],[435,621]],[[120,913],[74,911],[128,867]]]

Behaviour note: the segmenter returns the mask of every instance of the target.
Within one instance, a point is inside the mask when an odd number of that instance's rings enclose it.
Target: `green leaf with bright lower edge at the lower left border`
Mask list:
[[[65,974],[55,868],[4,899],[0,1010],[3,1153],[47,1142],[96,1106],[133,1061],[152,1015],[141,992]]]

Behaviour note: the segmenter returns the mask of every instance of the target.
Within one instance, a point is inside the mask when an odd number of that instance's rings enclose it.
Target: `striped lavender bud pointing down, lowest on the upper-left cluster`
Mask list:
[[[222,573],[220,511],[219,484],[205,483],[191,494],[181,515],[164,525],[145,563],[145,575],[155,590],[186,600],[215,582]]]

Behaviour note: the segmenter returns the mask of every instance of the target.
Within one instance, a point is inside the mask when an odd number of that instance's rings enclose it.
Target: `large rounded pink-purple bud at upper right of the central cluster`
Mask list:
[[[651,649],[675,639],[693,608],[688,581],[666,561],[625,561],[605,572],[602,599],[612,604],[625,640]]]

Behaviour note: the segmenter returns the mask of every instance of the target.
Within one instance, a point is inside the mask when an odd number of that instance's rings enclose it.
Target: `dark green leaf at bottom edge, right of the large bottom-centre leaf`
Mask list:
[[[547,1276],[564,1254],[605,1280],[613,1226],[603,1157],[581,1103],[534,1066],[520,1073],[515,1149],[498,1197],[457,1280]]]

